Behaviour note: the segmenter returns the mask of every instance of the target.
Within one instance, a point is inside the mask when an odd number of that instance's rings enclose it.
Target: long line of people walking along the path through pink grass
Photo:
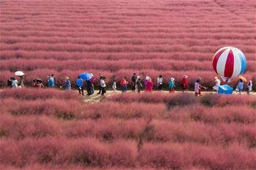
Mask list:
[[[213,90],[218,91],[221,81],[218,79],[218,77],[214,77],[214,80],[215,80],[215,85],[213,87]],[[90,80],[83,80],[80,76],[78,76],[78,79],[76,80],[75,85],[80,95],[82,96],[84,95],[83,90],[86,87],[87,95],[90,96],[94,93],[94,82],[95,82],[94,74],[91,74]],[[195,85],[194,85],[195,96],[201,96],[202,88],[207,89],[206,87],[201,85],[200,82],[201,82],[201,79],[200,77],[198,77],[195,80]],[[181,85],[182,91],[183,92],[186,91],[188,88],[188,76],[184,75],[182,77],[181,82],[179,82],[179,84]],[[131,83],[129,83],[127,77],[121,78],[120,87],[121,87],[122,93],[127,92],[128,85],[131,86],[132,92],[140,93],[143,89],[145,89],[146,92],[151,92],[153,90],[154,83],[152,82],[151,77],[146,76],[143,81],[139,75],[134,73],[132,74],[132,77],[131,77]],[[23,76],[19,76],[18,80],[16,80],[15,77],[10,77],[10,79],[7,80],[7,87],[22,88]],[[37,78],[33,80],[33,87],[43,88],[45,86],[42,84],[42,80]],[[54,74],[49,74],[48,88],[54,88],[54,87],[58,87],[58,85],[56,84],[56,77],[54,76]],[[72,90],[69,77],[65,77],[64,85],[59,85],[59,87],[64,88],[65,90]],[[104,77],[102,74],[99,74],[99,92],[97,94],[104,96],[104,94],[106,93],[106,88],[107,88],[106,77]],[[116,89],[117,89],[116,80],[113,80],[112,88],[113,88],[113,93],[116,93]],[[164,77],[162,75],[159,75],[159,77],[157,77],[157,90],[162,91],[163,88],[164,88]],[[170,77],[170,80],[168,81],[168,90],[170,91],[170,93],[173,93],[175,88],[176,88],[175,78]],[[236,92],[241,94],[242,90],[244,90],[244,80],[239,79],[238,85],[236,86]],[[252,91],[252,80],[250,80],[246,85],[246,93],[249,94],[251,91]]]

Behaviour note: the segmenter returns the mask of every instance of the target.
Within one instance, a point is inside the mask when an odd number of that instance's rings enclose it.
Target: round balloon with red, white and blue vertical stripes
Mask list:
[[[212,65],[223,81],[230,82],[245,71],[246,58],[236,47],[222,47],[215,53]]]

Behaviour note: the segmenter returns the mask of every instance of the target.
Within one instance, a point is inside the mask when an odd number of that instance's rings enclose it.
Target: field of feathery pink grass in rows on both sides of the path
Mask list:
[[[188,75],[211,89],[214,53],[246,55],[256,82],[254,1],[1,1],[0,169],[256,169],[256,98],[214,93],[124,93],[86,104],[56,85],[82,72]],[[7,89],[15,71],[26,88]],[[232,84],[235,88],[235,84]],[[255,85],[253,90],[255,90]],[[119,88],[119,87],[118,87]],[[129,84],[130,88],[130,84]],[[84,98],[83,98],[84,99]]]

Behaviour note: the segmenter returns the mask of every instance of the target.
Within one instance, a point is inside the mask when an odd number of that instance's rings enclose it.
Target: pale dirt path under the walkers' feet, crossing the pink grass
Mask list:
[[[120,93],[121,93],[121,90],[116,90],[115,93],[113,93],[112,90],[107,90],[107,93],[105,93],[104,96],[101,96],[101,95],[97,94],[97,92],[96,92],[96,93],[92,94],[91,96],[87,96],[87,95],[83,96],[83,101],[86,104],[91,104],[91,103],[95,103],[95,102],[104,101],[109,96],[113,96],[113,95],[120,94]],[[132,90],[128,90],[127,93],[132,93]],[[141,92],[141,93],[145,93],[145,92]],[[152,93],[169,93],[169,91],[167,91],[167,90],[162,91],[162,92],[153,91]],[[174,93],[182,93],[182,92],[175,91]],[[187,91],[186,93],[194,93],[194,91]],[[202,94],[207,94],[207,93],[216,93],[216,92],[210,92],[210,91],[202,92]],[[236,93],[236,91],[234,91],[233,95],[238,95],[238,93]],[[246,95],[246,92],[243,92],[242,95]],[[250,95],[256,96],[256,92],[251,92]]]

